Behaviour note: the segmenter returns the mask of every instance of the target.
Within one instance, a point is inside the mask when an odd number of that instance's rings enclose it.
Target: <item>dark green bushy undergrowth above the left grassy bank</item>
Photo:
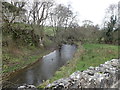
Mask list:
[[[19,24],[17,24],[16,27],[15,24],[8,25],[8,23],[4,23],[2,26],[2,31],[4,37],[9,36],[9,38],[12,38],[12,40],[15,43],[38,46],[39,36],[37,36],[34,33],[34,30],[27,30],[25,28],[21,28]],[[4,37],[3,37],[3,43],[4,43]]]

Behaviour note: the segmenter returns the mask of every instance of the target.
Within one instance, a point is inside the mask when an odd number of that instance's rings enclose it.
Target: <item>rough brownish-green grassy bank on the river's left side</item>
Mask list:
[[[42,56],[49,53],[51,50],[46,50],[40,47],[3,47],[2,49],[2,73],[3,76],[9,75],[14,71],[20,70],[33,64]]]

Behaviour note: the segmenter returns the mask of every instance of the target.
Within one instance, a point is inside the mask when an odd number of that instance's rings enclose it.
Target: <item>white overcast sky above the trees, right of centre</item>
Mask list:
[[[71,4],[74,12],[78,12],[79,24],[83,20],[91,20],[101,25],[105,10],[110,4],[117,4],[120,0],[55,0],[65,5]]]

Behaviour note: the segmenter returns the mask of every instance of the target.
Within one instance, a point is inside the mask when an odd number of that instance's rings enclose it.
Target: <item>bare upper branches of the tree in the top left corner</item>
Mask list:
[[[24,9],[25,2],[15,2],[11,0],[11,3],[2,2],[2,18],[7,23],[13,23],[17,16],[20,16]]]

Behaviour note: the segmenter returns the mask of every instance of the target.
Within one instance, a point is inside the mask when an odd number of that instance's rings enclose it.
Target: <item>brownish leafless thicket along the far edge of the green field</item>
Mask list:
[[[82,43],[97,43],[99,37],[101,36],[101,31],[95,26],[89,27],[77,27],[68,28],[67,30],[61,30],[58,32],[56,39],[62,39],[61,42],[73,44],[75,42],[81,41]],[[57,41],[60,41],[57,40]]]

